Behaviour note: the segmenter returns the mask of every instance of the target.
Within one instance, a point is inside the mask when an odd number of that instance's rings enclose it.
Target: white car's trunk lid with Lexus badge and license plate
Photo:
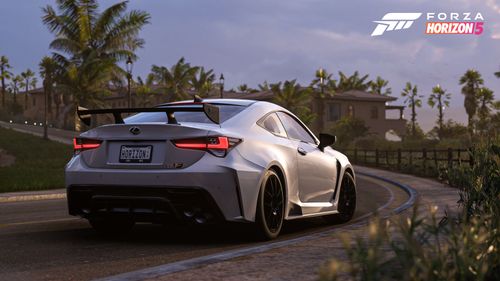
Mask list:
[[[217,125],[200,123],[106,125],[81,134],[82,138],[103,141],[97,149],[82,151],[81,156],[92,168],[186,168],[206,152],[177,148],[172,140],[214,135],[218,128]]]

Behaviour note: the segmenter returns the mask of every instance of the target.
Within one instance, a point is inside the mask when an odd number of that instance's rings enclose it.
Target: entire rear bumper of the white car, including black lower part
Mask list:
[[[190,194],[184,199],[191,203],[199,204],[197,200],[205,198],[203,204],[211,206],[214,217],[219,214],[226,221],[254,221],[263,168],[242,161],[238,154],[231,154],[233,156],[217,158],[207,153],[200,161],[184,169],[90,168],[79,156],[75,156],[66,165],[65,173],[69,212],[88,217],[87,212],[96,211],[96,208],[91,208],[92,204],[99,203],[97,205],[100,206],[107,201],[111,204],[110,210],[125,212],[128,208],[127,212],[136,215],[138,212],[135,209],[148,209],[150,217],[167,216],[159,213],[169,210],[172,214],[168,216],[176,217],[185,210],[177,206],[172,208],[171,205],[182,193]],[[80,197],[87,198],[82,202],[87,200],[90,203],[80,202]],[[138,207],[135,207],[136,203]],[[162,207],[158,209],[156,205]],[[105,208],[98,209],[103,211]],[[150,220],[148,216],[144,217],[144,220]]]

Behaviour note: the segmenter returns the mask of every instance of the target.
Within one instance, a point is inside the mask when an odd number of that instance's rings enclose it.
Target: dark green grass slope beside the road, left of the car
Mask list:
[[[16,157],[13,165],[0,168],[0,192],[64,187],[71,146],[0,128],[0,148]]]

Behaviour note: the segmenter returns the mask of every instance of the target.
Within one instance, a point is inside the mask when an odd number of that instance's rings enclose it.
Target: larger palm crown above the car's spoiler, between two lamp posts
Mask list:
[[[191,67],[183,57],[170,69],[157,65],[151,68],[154,80],[167,92],[170,100],[174,101],[189,97],[188,90],[192,88],[191,81],[196,72],[198,67]]]

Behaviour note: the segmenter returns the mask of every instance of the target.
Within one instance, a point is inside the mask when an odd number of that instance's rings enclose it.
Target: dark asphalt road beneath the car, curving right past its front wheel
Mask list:
[[[353,221],[407,198],[395,186],[358,176]],[[279,240],[342,227],[319,218],[291,221]],[[0,280],[89,280],[261,243],[234,226],[139,224],[130,234],[106,238],[68,216],[65,200],[0,204]]]

